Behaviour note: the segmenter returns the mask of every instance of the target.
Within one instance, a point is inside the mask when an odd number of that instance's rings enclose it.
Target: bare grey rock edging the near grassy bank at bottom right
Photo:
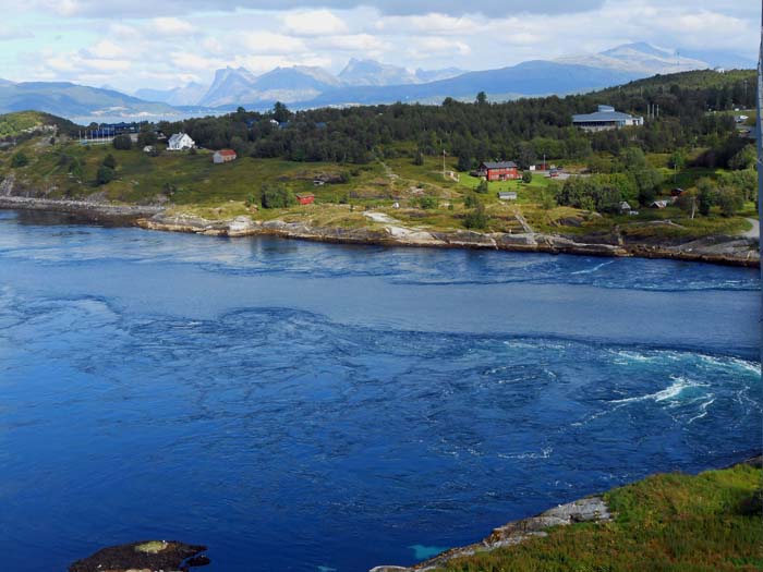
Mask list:
[[[425,572],[436,570],[453,558],[472,556],[477,552],[520,544],[530,538],[548,536],[546,531],[552,526],[569,526],[579,522],[607,522],[611,519],[613,515],[604,498],[598,496],[589,497],[567,504],[559,504],[537,516],[510,522],[495,528],[487,538],[480,543],[461,548],[452,548],[414,567],[382,565],[372,569],[371,572]]]

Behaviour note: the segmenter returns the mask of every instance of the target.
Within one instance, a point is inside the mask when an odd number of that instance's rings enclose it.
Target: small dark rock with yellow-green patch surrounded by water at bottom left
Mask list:
[[[206,556],[199,556],[206,546],[187,545],[177,540],[147,540],[124,544],[98,550],[93,556],[77,560],[69,567],[69,572],[166,572],[187,570],[209,563]]]

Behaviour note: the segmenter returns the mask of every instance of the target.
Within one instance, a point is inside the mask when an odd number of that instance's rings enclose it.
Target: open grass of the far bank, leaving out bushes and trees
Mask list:
[[[39,120],[24,113],[11,117],[15,118],[13,129]],[[159,147],[162,149],[161,145]],[[29,157],[29,165],[12,169],[11,157],[20,150]],[[99,186],[96,173],[109,154],[117,160],[116,179]],[[669,194],[674,186],[689,188],[701,177],[719,175],[719,171],[692,168],[681,170],[674,179],[673,172],[665,167],[667,156],[654,155],[649,159],[664,169],[663,194]],[[70,172],[73,161],[82,165],[81,171]],[[453,158],[447,159],[446,170],[456,171]],[[458,181],[444,178],[439,157],[425,157],[420,166],[414,165],[410,157],[377,159],[364,166],[251,157],[214,165],[209,150],[161,150],[159,156],[152,157],[135,146],[131,150],[116,150],[111,145],[51,144],[49,137],[35,137],[12,150],[0,151],[0,178],[9,173],[13,173],[19,185],[43,191],[50,198],[95,195],[116,203],[165,202],[173,205],[177,211],[210,219],[249,215],[259,220],[281,218],[346,228],[374,226],[361,212],[375,209],[387,212],[404,226],[428,230],[463,229],[465,216],[471,210],[464,206],[464,198],[480,184],[480,179],[467,173],[461,173]],[[313,181],[320,178],[332,182],[315,186]],[[530,183],[489,183],[488,192],[479,195],[488,217],[485,230],[522,232],[516,216],[521,214],[540,232],[607,234],[618,227],[630,236],[691,239],[741,232],[749,228],[744,217],[755,216],[754,205],[749,204],[740,216],[731,218],[715,214],[690,220],[675,207],[641,209],[637,217],[602,217],[557,207],[549,190],[552,181],[533,174]],[[282,185],[293,193],[313,193],[315,205],[271,210],[258,208],[256,205],[264,184]],[[517,192],[518,199],[499,200],[497,194],[501,191]],[[645,224],[665,219],[676,224]]]

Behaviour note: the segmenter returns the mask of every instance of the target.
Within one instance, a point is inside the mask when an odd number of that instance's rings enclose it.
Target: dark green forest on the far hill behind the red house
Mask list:
[[[243,108],[222,117],[159,123],[164,133],[184,131],[206,148],[231,147],[241,156],[292,161],[366,163],[372,158],[428,156],[444,151],[468,170],[483,160],[513,160],[521,168],[542,157],[585,162],[595,151],[618,155],[626,147],[671,153],[705,147],[703,161],[727,167],[739,150],[735,108],[754,107],[752,71],[685,72],[567,97],[526,98],[493,104],[446,99],[440,106],[395,104],[291,111],[276,104],[268,113]],[[600,104],[659,118],[644,126],[585,134],[572,114]]]

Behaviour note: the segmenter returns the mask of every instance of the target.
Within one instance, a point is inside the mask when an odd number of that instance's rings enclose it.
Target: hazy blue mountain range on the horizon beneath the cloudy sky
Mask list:
[[[456,68],[411,71],[374,60],[352,59],[341,72],[296,65],[257,75],[244,68],[217,70],[210,85],[190,83],[171,89],[138,89],[125,95],[72,83],[0,80],[0,112],[37,109],[62,117],[171,117],[227,111],[239,106],[267,109],[276,101],[295,109],[471,99],[485,92],[499,101],[523,96],[565,95],[600,89],[655,74],[707,68],[753,68],[731,53],[679,52],[645,42],[600,53],[532,60],[496,70]]]

